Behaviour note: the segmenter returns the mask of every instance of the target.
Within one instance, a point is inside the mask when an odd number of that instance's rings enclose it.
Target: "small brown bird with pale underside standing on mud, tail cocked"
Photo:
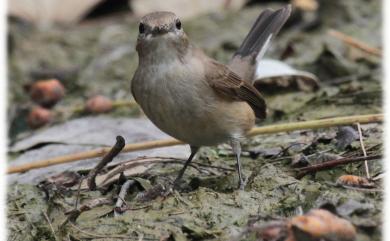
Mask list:
[[[174,13],[153,12],[141,19],[136,47],[139,63],[131,91],[157,127],[191,147],[174,187],[201,146],[230,141],[239,188],[244,188],[240,140],[256,117],[266,117],[266,103],[252,85],[257,61],[290,12],[290,5],[263,11],[229,65],[190,43]]]

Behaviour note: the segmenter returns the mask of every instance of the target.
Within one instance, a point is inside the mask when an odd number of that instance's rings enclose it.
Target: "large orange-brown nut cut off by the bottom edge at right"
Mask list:
[[[287,240],[291,241],[353,241],[356,238],[355,227],[349,221],[324,209],[293,217],[288,228]]]

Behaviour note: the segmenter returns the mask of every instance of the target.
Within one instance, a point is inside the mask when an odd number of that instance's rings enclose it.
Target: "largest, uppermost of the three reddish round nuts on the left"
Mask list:
[[[65,88],[57,79],[39,80],[30,88],[31,99],[46,108],[51,108],[65,96]]]

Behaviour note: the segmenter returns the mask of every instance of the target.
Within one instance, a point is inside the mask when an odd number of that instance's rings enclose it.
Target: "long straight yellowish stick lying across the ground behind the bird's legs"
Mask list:
[[[371,115],[356,115],[356,116],[328,118],[322,120],[284,123],[284,124],[256,127],[253,128],[248,135],[256,136],[260,134],[272,134],[272,133],[288,132],[288,131],[296,131],[296,130],[319,129],[319,128],[326,128],[332,126],[351,125],[357,122],[361,124],[366,124],[366,123],[373,123],[373,122],[382,122],[383,119],[384,119],[383,114],[371,114]],[[183,142],[172,138],[165,139],[165,140],[139,142],[139,143],[127,144],[123,148],[122,152],[140,151],[140,150],[146,150],[152,148],[160,148],[160,147],[183,145],[183,144],[184,144]],[[110,148],[100,148],[96,150],[60,156],[48,160],[30,162],[19,166],[9,167],[7,173],[11,174],[11,173],[25,172],[31,169],[100,157],[105,155],[107,152],[109,152],[109,150]]]

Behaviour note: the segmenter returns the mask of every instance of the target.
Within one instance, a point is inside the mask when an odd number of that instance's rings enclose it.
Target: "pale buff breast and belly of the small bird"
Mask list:
[[[191,145],[215,145],[244,135],[254,125],[249,105],[221,99],[203,78],[204,68],[196,60],[140,67],[133,93],[157,127]]]

